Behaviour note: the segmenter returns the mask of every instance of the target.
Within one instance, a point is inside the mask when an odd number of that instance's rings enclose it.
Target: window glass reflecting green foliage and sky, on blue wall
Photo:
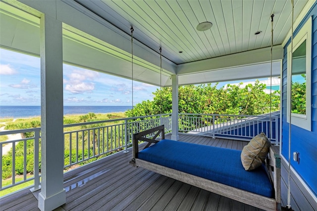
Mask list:
[[[292,58],[292,113],[306,114],[306,40]]]

